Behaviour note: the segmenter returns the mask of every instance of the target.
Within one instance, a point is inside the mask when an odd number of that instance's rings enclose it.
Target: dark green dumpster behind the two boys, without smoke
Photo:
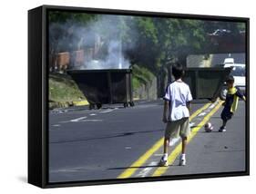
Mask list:
[[[187,68],[183,80],[189,84],[194,99],[215,101],[220,96],[223,84],[231,69],[221,67]]]

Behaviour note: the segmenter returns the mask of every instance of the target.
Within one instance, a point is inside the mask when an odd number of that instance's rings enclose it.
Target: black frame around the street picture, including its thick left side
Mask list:
[[[242,22],[246,24],[246,151],[245,170],[236,172],[209,173],[196,175],[177,175],[157,178],[128,178],[87,180],[50,183],[48,181],[48,11],[85,12],[108,15],[139,15],[154,17],[172,17],[182,19],[216,20]],[[216,15],[184,15],[132,10],[112,10],[82,8],[71,6],[42,5],[28,11],[28,183],[40,188],[102,185],[160,181],[173,179],[206,179],[250,175],[250,19]]]

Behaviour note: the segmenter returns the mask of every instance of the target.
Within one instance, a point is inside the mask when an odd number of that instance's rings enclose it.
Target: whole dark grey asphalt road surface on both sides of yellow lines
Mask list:
[[[193,112],[203,105],[193,103]],[[173,163],[159,176],[244,170],[244,102],[240,102],[228,123],[227,132],[216,132],[220,126],[220,107],[210,118],[215,131],[205,133],[200,123],[214,107],[218,108],[216,104],[210,105],[211,109],[199,112],[191,121],[192,129],[198,130],[188,145],[188,165],[179,167],[172,157]],[[159,169],[162,142],[159,149],[151,150],[164,133],[162,108],[162,101],[155,101],[137,102],[127,109],[112,105],[94,111],[49,112],[49,181],[117,179],[121,174],[137,178],[154,176]],[[172,141],[170,156],[178,145],[179,140]],[[132,166],[136,160],[145,159],[141,156],[148,150],[152,152],[146,154],[148,159]]]

